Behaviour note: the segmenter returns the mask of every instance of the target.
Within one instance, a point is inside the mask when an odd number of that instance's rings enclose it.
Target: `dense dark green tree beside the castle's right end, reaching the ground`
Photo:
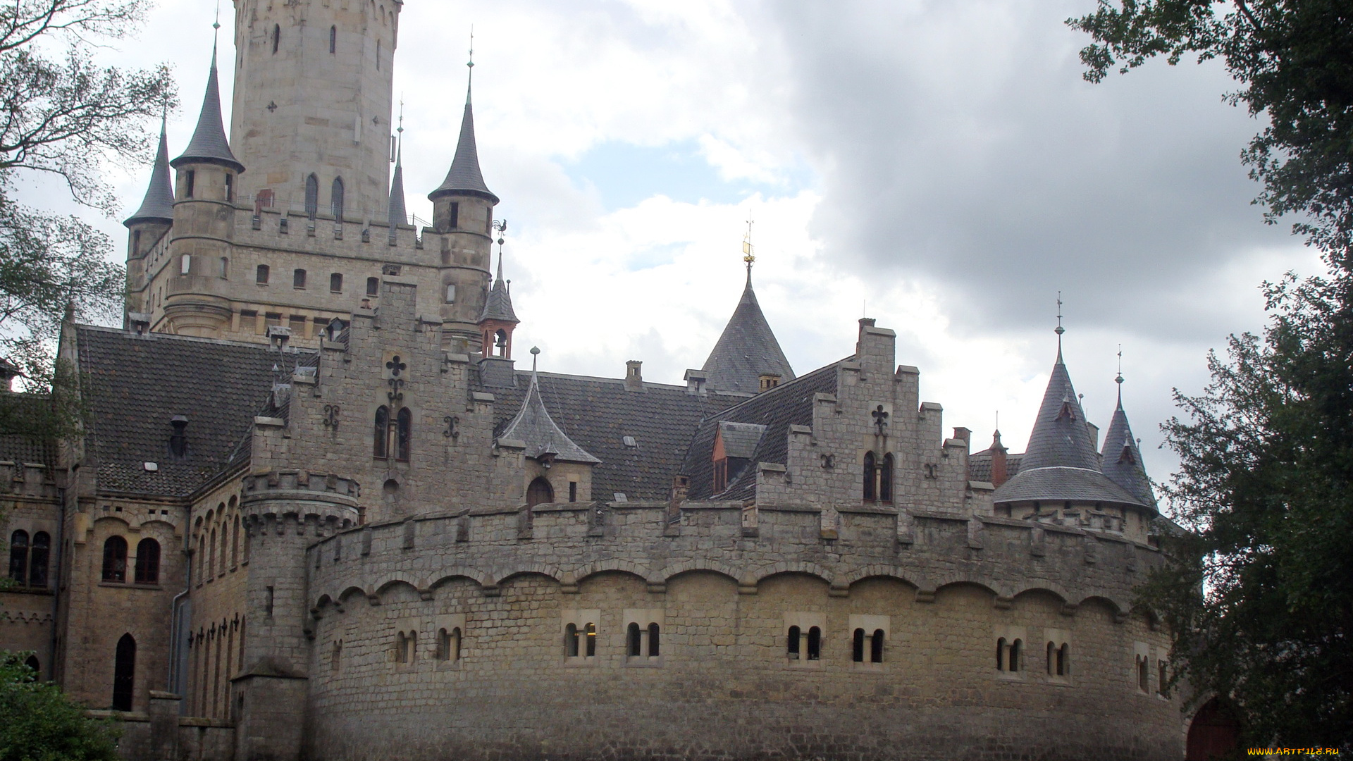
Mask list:
[[[1353,279],[1265,284],[1262,336],[1212,352],[1164,425],[1180,470],[1174,565],[1143,601],[1196,689],[1231,699],[1252,745],[1353,750]]]

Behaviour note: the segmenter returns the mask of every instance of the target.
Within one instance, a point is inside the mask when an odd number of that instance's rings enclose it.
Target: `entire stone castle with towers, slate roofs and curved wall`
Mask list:
[[[1059,348],[1023,455],[873,320],[796,375],[750,269],[685,385],[528,368],[468,93],[406,213],[399,0],[234,5],[230,139],[212,51],[123,328],[64,328],[84,436],[0,441],[0,647],[127,758],[1183,757],[1155,500]]]

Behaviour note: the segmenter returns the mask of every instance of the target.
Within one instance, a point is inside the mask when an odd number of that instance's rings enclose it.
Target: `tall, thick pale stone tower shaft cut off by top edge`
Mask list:
[[[400,0],[235,0],[231,146],[264,207],[384,219]]]

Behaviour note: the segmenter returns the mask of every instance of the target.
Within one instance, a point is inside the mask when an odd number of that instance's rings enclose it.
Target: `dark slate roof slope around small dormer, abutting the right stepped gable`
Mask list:
[[[836,393],[836,370],[840,363],[820,367],[808,375],[756,394],[755,397],[713,413],[695,431],[682,473],[690,477],[691,500],[747,500],[756,496],[756,463],[786,463],[789,427],[813,424],[813,395]],[[728,487],[714,494],[714,435],[720,422],[764,425],[748,467],[737,475],[728,474]]]

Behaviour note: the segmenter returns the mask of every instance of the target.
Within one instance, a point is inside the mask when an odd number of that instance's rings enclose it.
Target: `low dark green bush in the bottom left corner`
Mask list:
[[[118,734],[0,651],[0,761],[116,761]]]

